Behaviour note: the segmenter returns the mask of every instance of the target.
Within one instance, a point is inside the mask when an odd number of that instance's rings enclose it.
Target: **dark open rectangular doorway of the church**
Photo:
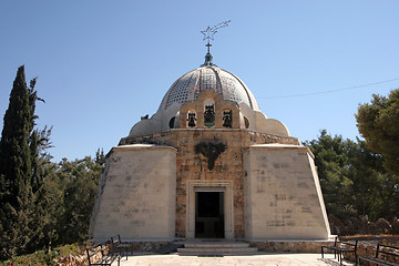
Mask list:
[[[224,238],[224,192],[195,192],[195,237]]]

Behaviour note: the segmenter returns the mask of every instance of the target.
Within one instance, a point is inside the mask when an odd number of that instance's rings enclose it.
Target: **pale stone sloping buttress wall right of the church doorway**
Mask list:
[[[310,151],[253,145],[244,153],[246,239],[328,239],[329,224]]]

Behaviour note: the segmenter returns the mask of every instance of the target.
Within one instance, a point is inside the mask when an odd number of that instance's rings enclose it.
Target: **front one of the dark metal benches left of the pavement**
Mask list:
[[[121,264],[121,256],[114,252],[108,252],[106,245],[99,243],[86,249],[89,265],[108,265],[111,266],[113,262],[117,260],[117,266]],[[99,257],[99,254],[101,256]]]

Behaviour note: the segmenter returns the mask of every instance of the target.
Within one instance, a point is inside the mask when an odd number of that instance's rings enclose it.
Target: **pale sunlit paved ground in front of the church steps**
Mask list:
[[[114,263],[116,265],[116,263]],[[196,257],[178,255],[135,255],[121,259],[121,266],[297,266],[297,265],[336,265],[332,254],[321,258],[320,254],[262,254],[255,256]],[[344,265],[355,265],[345,262]]]

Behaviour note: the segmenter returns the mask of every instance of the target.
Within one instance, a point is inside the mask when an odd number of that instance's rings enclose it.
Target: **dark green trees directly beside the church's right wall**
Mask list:
[[[382,167],[382,157],[365,142],[331,136],[326,130],[317,140],[305,142],[315,163],[327,213],[342,223],[350,217],[392,219],[399,216],[399,187],[396,175]]]

